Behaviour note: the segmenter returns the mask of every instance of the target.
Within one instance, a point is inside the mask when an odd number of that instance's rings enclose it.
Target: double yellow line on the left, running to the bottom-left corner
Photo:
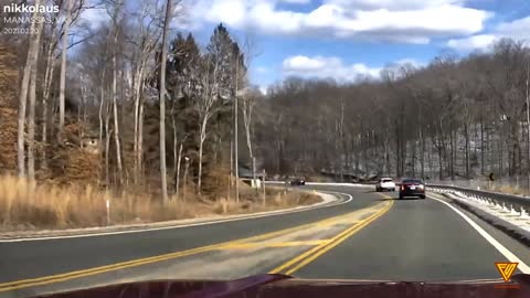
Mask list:
[[[8,290],[13,290],[13,289],[19,289],[19,288],[26,288],[26,287],[33,287],[33,286],[54,284],[54,283],[70,280],[70,279],[75,279],[75,278],[103,274],[103,273],[107,273],[107,272],[125,269],[125,268],[136,267],[136,266],[140,266],[140,265],[157,263],[157,262],[161,262],[161,260],[168,260],[168,259],[173,259],[173,258],[178,258],[178,257],[183,257],[183,256],[190,256],[190,255],[194,255],[194,254],[211,252],[211,251],[215,251],[215,249],[219,249],[219,248],[222,248],[222,247],[225,247],[225,246],[230,246],[230,245],[236,245],[236,244],[242,244],[242,243],[246,243],[246,242],[255,242],[255,241],[259,241],[259,240],[266,240],[266,238],[271,238],[271,237],[274,237],[274,236],[278,236],[278,235],[287,234],[287,233],[290,233],[290,232],[295,232],[295,231],[298,231],[298,230],[305,230],[305,228],[315,226],[316,224],[319,224],[319,223],[322,223],[322,222],[337,221],[340,217],[350,216],[351,214],[358,213],[362,210],[363,209],[356,210],[353,212],[349,212],[349,213],[346,213],[346,214],[336,215],[336,216],[328,217],[328,219],[319,221],[319,222],[303,224],[303,225],[298,225],[298,226],[294,226],[294,227],[289,227],[289,228],[284,228],[284,230],[279,230],[279,231],[275,231],[275,232],[271,232],[271,233],[265,233],[265,234],[261,234],[261,235],[255,235],[255,236],[251,236],[251,237],[246,237],[246,238],[229,241],[229,242],[224,242],[224,243],[220,243],[220,244],[195,247],[195,248],[191,248],[191,249],[187,249],[187,251],[173,252],[173,253],[152,256],[152,257],[131,259],[131,260],[127,260],[127,262],[120,262],[120,263],[115,263],[115,264],[105,265],[105,266],[92,267],[92,268],[87,268],[87,269],[73,270],[73,272],[68,272],[68,273],[64,273],[64,274],[8,281],[8,283],[0,284],[0,292],[8,291]]]

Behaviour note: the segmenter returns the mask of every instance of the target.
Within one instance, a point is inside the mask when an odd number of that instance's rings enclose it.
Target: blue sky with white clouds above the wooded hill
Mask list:
[[[390,64],[417,66],[443,52],[488,51],[500,38],[530,36],[529,0],[195,0],[189,24],[205,44],[216,23],[259,55],[251,77],[354,81]]]

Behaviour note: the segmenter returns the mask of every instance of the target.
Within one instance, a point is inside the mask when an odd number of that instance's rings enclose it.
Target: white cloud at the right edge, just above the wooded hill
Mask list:
[[[500,23],[488,34],[449,40],[447,45],[460,52],[487,51],[502,38],[530,40],[530,17]]]

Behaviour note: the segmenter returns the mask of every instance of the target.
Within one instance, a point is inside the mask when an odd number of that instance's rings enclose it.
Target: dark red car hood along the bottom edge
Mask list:
[[[256,275],[219,280],[156,280],[119,284],[39,297],[47,298],[388,298],[388,297],[530,297],[530,275],[515,275],[513,283],[473,280],[409,283],[373,280],[297,279],[286,275]]]

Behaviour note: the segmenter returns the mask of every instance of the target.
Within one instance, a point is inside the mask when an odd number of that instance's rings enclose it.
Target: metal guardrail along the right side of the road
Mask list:
[[[449,185],[427,184],[426,187],[427,190],[435,192],[458,192],[473,199],[487,201],[490,204],[510,206],[518,212],[521,212],[523,210],[530,210],[530,198],[526,196]]]

